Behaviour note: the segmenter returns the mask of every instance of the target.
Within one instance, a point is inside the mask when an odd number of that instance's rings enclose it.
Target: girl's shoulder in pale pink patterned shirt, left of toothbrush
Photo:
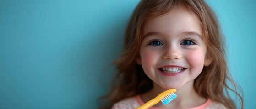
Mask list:
[[[115,103],[111,109],[135,109],[139,106],[136,96],[134,96]]]

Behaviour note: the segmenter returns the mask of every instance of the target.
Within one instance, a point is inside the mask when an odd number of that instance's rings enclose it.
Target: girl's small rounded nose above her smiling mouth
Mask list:
[[[165,49],[164,54],[163,54],[163,59],[181,59],[182,54],[180,53],[179,48],[177,47],[168,47]]]

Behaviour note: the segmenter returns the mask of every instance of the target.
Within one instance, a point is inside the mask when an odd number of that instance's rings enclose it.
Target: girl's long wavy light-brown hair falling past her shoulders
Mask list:
[[[174,8],[180,8],[197,15],[201,21],[207,54],[213,59],[212,63],[204,67],[202,73],[195,79],[194,87],[202,97],[210,98],[224,104],[228,109],[236,109],[236,102],[229,96],[234,92],[240,101],[240,108],[244,108],[240,86],[234,82],[229,73],[224,50],[224,37],[218,24],[216,15],[203,0],[142,0],[136,7],[125,33],[125,43],[120,58],[114,61],[118,69],[112,81],[109,94],[103,96],[103,107],[110,109],[114,103],[142,94],[153,88],[153,81],[143,72],[142,66],[136,64],[142,43],[142,29],[146,20],[163,15]],[[228,85],[228,81],[232,87]],[[102,99],[101,98],[101,99]]]

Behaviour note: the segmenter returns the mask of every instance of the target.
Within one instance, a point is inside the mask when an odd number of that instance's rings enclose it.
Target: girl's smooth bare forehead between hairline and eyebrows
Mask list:
[[[202,36],[202,26],[196,15],[185,10],[171,10],[158,17],[146,20],[143,25],[142,36],[150,32],[179,35],[191,31]]]

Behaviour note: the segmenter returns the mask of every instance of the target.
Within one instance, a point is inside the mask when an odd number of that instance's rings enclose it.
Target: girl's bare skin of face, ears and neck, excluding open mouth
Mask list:
[[[143,27],[140,57],[136,62],[153,80],[153,89],[142,94],[142,101],[147,102],[167,89],[177,89],[176,99],[165,106],[159,102],[154,107],[180,109],[204,104],[207,99],[196,93],[193,84],[203,67],[211,64],[212,58],[206,55],[207,47],[196,15],[171,10],[147,20]],[[166,76],[159,70],[164,66],[180,66],[184,71]]]

